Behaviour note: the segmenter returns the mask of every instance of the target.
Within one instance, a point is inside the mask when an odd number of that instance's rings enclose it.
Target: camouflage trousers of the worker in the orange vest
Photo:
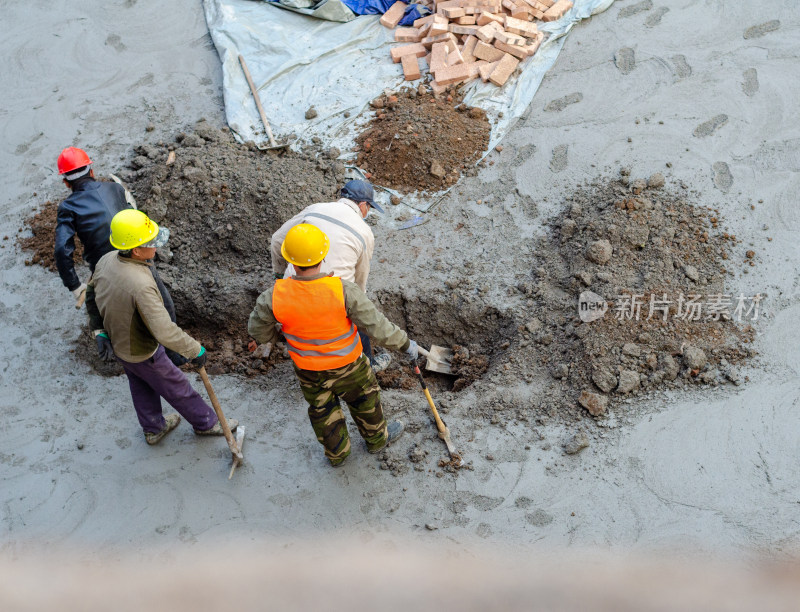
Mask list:
[[[335,370],[301,370],[295,366],[308,418],[325,447],[325,456],[338,465],[350,454],[350,436],[339,400],[344,400],[367,448],[386,444],[386,420],[381,408],[381,391],[369,359],[363,354],[353,363]]]

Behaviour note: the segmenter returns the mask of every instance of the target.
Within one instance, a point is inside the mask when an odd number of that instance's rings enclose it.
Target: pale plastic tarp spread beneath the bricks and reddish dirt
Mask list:
[[[614,0],[575,0],[561,19],[540,24],[549,38],[504,87],[480,80],[466,86],[465,102],[480,106],[492,120],[490,149],[533,100],[545,73],[555,62],[565,35],[575,23],[606,10]],[[394,31],[375,15],[335,23],[253,0],[205,0],[208,29],[222,61],[223,96],[228,125],[242,141],[266,142],[244,73],[241,54],[261,96],[278,142],[319,138],[328,146],[352,151],[355,137],[369,118],[369,101],[384,90],[403,86],[400,64],[389,50]],[[414,82],[416,85],[418,82]],[[318,115],[305,118],[313,106]],[[502,117],[499,113],[502,112]],[[363,114],[362,114],[363,113]],[[404,198],[409,202],[409,198]],[[419,202],[426,210],[436,198]]]

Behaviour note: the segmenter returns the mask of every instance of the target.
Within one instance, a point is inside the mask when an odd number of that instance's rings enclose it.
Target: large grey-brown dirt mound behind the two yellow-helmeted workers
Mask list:
[[[205,121],[173,143],[134,151],[129,168],[117,174],[139,208],[171,231],[158,268],[178,324],[210,351],[209,372],[252,375],[285,358],[280,345],[267,359],[251,357],[247,319],[273,282],[272,233],[305,206],[338,198],[345,180],[338,151],[259,151]],[[33,236],[20,240],[33,251],[31,263],[53,270],[56,207],[48,202],[26,221]],[[78,352],[86,346],[79,343]]]

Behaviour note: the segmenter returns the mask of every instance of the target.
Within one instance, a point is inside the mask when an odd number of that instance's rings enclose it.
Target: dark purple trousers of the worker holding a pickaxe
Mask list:
[[[146,433],[158,433],[166,425],[161,413],[162,397],[195,429],[211,429],[217,424],[214,409],[169,360],[163,346],[159,346],[150,359],[139,363],[117,359],[128,375],[133,407]]]

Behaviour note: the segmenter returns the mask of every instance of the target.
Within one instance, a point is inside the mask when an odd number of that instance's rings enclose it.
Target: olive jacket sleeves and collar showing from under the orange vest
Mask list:
[[[317,274],[307,278],[292,277],[299,281],[310,281],[330,276]],[[405,351],[411,344],[408,335],[387,319],[381,311],[375,308],[367,295],[355,283],[342,280],[344,291],[344,308],[350,320],[356,324],[358,330],[369,336],[370,340],[396,351]],[[250,313],[247,323],[247,332],[259,344],[275,342],[278,339],[278,321],[272,313],[272,289],[267,289],[258,296],[256,306]]]

